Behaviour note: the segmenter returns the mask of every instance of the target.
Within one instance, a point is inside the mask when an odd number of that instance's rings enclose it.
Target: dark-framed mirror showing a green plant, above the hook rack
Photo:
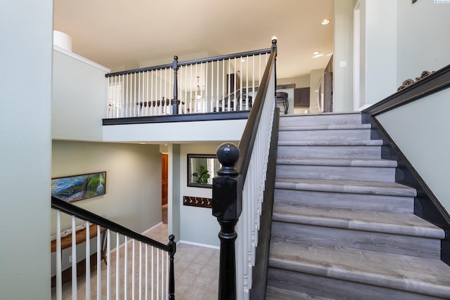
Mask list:
[[[188,154],[188,186],[195,188],[212,188],[212,178],[220,168],[217,155]]]

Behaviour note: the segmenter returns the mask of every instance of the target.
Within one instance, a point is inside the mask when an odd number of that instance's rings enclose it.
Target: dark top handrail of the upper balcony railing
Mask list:
[[[200,58],[197,60],[186,60],[184,62],[178,62],[177,66],[182,67],[184,65],[195,65],[196,63],[210,63],[210,62],[216,61],[216,60],[226,60],[229,58],[238,58],[241,56],[253,56],[253,55],[258,55],[258,54],[266,54],[266,53],[270,53],[270,52],[271,52],[271,48],[266,48],[266,49],[255,50],[255,51],[227,54],[225,56],[213,56],[212,58]],[[142,67],[142,68],[134,69],[134,70],[108,73],[108,74],[105,74],[105,77],[113,77],[113,76],[118,76],[118,75],[134,74],[134,73],[139,73],[139,72],[160,70],[160,69],[165,69],[167,67],[173,67],[173,66],[174,66],[173,63],[168,63],[165,65],[158,65],[155,67]]]

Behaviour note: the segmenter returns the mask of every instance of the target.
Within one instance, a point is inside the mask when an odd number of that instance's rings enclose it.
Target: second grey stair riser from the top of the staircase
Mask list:
[[[370,129],[280,131],[278,141],[370,140]]]

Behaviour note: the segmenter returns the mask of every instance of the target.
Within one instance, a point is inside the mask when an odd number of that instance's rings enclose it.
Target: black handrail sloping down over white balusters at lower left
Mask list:
[[[94,223],[104,228],[108,228],[113,230],[116,233],[120,233],[122,235],[127,235],[128,237],[133,238],[134,240],[139,240],[140,242],[145,242],[146,244],[150,244],[154,247],[158,247],[167,252],[171,252],[172,249],[166,244],[162,244],[156,240],[150,239],[150,237],[146,237],[145,235],[141,235],[136,233],[133,230],[130,230],[120,224],[117,224],[113,221],[103,218],[103,216],[98,216],[98,214],[94,214],[91,211],[86,211],[86,209],[82,209],[81,207],[77,207],[76,205],[70,204],[69,202],[65,202],[60,200],[54,196],[51,196],[51,208],[58,209],[60,211],[65,212],[65,214],[70,214],[72,216],[76,216],[78,219],[82,219],[84,221],[89,221],[90,223]]]

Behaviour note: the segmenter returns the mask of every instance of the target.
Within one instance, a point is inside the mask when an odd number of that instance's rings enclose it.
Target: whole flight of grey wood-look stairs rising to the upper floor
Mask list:
[[[450,299],[444,230],[370,131],[359,113],[281,117],[266,299]]]

